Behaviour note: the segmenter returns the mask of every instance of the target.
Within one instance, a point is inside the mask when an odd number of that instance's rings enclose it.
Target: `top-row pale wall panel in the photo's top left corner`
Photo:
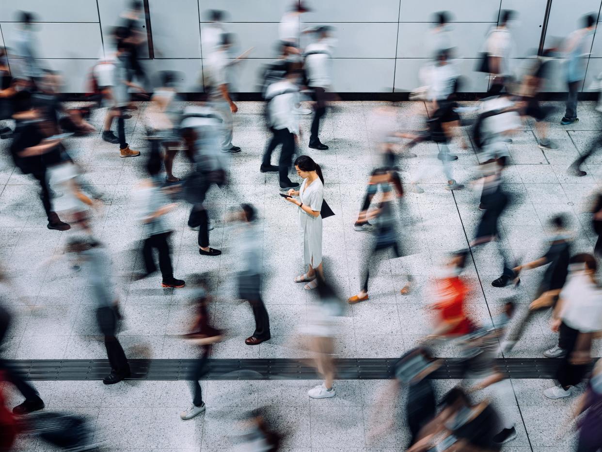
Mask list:
[[[4,0],[0,20],[17,22],[19,11],[33,11],[36,22],[98,22],[96,0]]]

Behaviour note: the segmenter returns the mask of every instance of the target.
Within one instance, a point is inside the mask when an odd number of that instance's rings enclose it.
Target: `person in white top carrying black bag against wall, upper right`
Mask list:
[[[501,13],[500,23],[489,31],[485,42],[485,51],[489,58],[489,73],[493,76],[490,81],[489,92],[498,94],[507,83],[512,74],[510,57],[512,54],[512,34],[509,22],[514,19],[516,12],[504,10]]]

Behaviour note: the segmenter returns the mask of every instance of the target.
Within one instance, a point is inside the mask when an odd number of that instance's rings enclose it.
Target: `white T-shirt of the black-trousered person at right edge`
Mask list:
[[[560,318],[582,333],[602,330],[602,290],[582,271],[569,273],[560,292]]]

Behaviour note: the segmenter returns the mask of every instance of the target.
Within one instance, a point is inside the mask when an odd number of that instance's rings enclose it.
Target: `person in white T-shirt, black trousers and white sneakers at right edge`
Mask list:
[[[569,274],[554,309],[551,330],[560,333],[566,350],[556,372],[559,385],[544,391],[547,398],[571,395],[588,370],[594,333],[602,331],[602,290],[595,280],[598,264],[591,254],[580,253],[569,261]]]

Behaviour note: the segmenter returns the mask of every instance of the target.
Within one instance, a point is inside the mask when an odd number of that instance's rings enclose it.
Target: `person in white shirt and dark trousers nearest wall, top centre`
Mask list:
[[[319,27],[315,30],[318,39],[305,49],[305,71],[308,86],[314,91],[314,119],[311,122],[309,147],[325,151],[328,146],[320,142],[320,119],[326,114],[326,91],[332,84],[332,45],[330,27]]]

